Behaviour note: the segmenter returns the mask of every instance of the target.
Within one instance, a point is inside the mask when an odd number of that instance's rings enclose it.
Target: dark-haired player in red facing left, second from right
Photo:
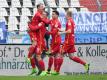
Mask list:
[[[61,36],[59,30],[61,28],[61,23],[58,20],[59,12],[53,11],[52,12],[52,20],[50,20],[51,31],[49,32],[52,36],[51,45],[50,45],[50,53],[51,56],[49,57],[48,62],[48,72],[50,73],[52,64],[54,62],[54,73],[58,75],[60,72],[60,67],[63,63],[63,58],[60,55],[60,45],[61,45]]]

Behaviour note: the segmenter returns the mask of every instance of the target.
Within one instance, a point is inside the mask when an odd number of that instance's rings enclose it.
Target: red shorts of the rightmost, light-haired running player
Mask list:
[[[64,53],[68,54],[76,52],[75,45],[64,44],[62,45],[62,49],[64,50]]]

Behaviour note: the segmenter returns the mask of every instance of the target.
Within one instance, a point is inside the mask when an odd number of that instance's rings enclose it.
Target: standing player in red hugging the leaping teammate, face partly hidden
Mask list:
[[[42,71],[42,73],[40,74],[40,76],[44,76],[46,75],[45,72],[45,64],[42,57],[42,53],[44,50],[46,50],[46,42],[45,42],[45,33],[46,33],[46,25],[47,23],[49,23],[49,20],[47,18],[48,14],[47,12],[43,12],[43,18],[42,18],[42,22],[40,22],[40,24],[42,25],[41,27],[38,28],[37,30],[37,48],[36,48],[36,59],[38,61],[38,65],[40,70]]]

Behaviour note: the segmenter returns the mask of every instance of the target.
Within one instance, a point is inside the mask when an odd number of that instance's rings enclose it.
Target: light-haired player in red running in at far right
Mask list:
[[[71,15],[72,15],[72,12],[67,11],[67,14],[66,14],[66,19],[67,19],[66,30],[61,32],[61,33],[65,33],[65,41],[62,45],[61,53],[68,53],[69,58],[71,60],[73,60],[74,62],[82,64],[85,67],[86,71],[88,72],[89,71],[89,64],[87,64],[85,61],[81,60],[79,57],[74,56],[74,53],[76,52],[75,36],[74,36],[75,23],[74,23],[73,19],[71,18]]]

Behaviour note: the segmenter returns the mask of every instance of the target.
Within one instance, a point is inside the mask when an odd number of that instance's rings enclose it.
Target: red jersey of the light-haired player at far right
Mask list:
[[[66,31],[70,29],[71,33],[67,33],[65,35],[65,42],[64,42],[65,44],[74,45],[75,43],[74,28],[75,28],[75,23],[72,20],[72,18],[70,18],[66,23]]]

